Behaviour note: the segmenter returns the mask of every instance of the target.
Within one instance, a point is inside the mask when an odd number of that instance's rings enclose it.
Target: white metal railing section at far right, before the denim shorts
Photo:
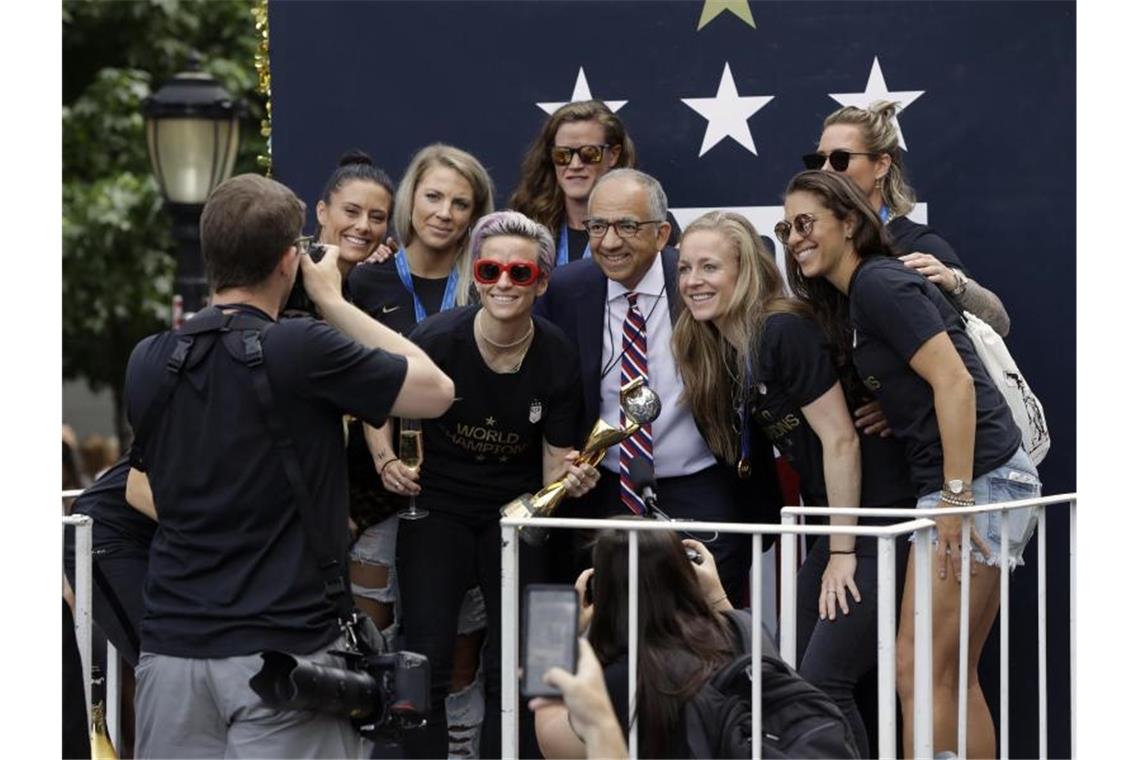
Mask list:
[[[1017,501],[1004,501],[997,504],[979,505],[975,507],[935,507],[926,509],[893,509],[893,508],[831,508],[831,507],[784,507],[781,510],[783,515],[784,524],[793,524],[797,517],[804,516],[833,516],[833,515],[847,515],[847,516],[865,516],[865,517],[930,517],[930,516],[953,516],[961,515],[963,517],[962,536],[970,536],[970,530],[972,526],[972,521],[975,515],[1001,512],[1001,551],[999,554],[1001,573],[1001,695],[1000,695],[1000,745],[999,745],[999,757],[1002,760],[1009,758],[1009,514],[1013,509],[1025,509],[1033,508],[1037,517],[1037,742],[1039,742],[1039,754],[1042,759],[1049,757],[1048,745],[1048,668],[1047,668],[1047,610],[1045,610],[1045,559],[1047,559],[1047,542],[1045,542],[1045,507],[1056,506],[1059,504],[1067,504],[1069,506],[1069,679],[1070,679],[1070,704],[1076,704],[1076,627],[1075,627],[1075,610],[1076,610],[1076,493],[1060,493],[1057,496],[1039,497],[1035,499],[1020,499]],[[789,542],[789,536],[785,534],[783,538],[782,553],[784,556],[784,562],[792,562],[790,557],[795,557],[795,544]],[[925,541],[919,541],[915,539],[915,631],[914,631],[914,681],[915,689],[919,684],[923,684],[930,678],[931,673],[931,653],[930,653],[930,636],[927,630],[929,626],[929,620],[921,621],[920,627],[920,613],[919,608],[930,608],[930,597],[931,591],[931,578],[930,578],[930,562],[929,557],[922,558],[922,545]],[[791,550],[789,551],[789,546]],[[969,610],[970,607],[970,547],[971,542],[968,540],[962,541],[961,555],[959,561],[961,562],[961,610]],[[927,547],[928,548],[928,547]],[[781,653],[784,659],[788,659],[788,647],[791,647],[791,652],[795,653],[796,646],[796,583],[789,581],[789,575],[795,574],[795,567],[792,571],[788,572],[789,564],[784,565],[784,578],[783,588],[781,589],[781,600],[784,603],[783,612],[787,613],[790,608],[792,615],[783,615],[781,621]],[[881,573],[883,571],[881,555],[879,563],[880,571],[880,588]],[[890,569],[891,575],[894,574],[894,567]],[[894,590],[891,590],[894,595]],[[789,600],[790,597],[790,600]],[[882,598],[880,596],[880,598]],[[893,598],[893,596],[890,597]],[[926,599],[925,603],[920,604],[920,599]],[[883,605],[879,605],[880,618],[880,643],[882,640],[881,628],[883,624],[882,620],[882,608]],[[966,709],[966,697],[967,697],[967,660],[969,651],[969,615],[959,615],[960,629],[959,629],[959,667],[958,667],[958,757],[966,758],[966,737],[967,737],[967,709]],[[790,628],[790,632],[789,632]],[[790,644],[789,639],[790,638]],[[882,656],[885,653],[880,648],[880,678],[882,677]],[[894,659],[894,646],[891,646],[891,660]],[[881,689],[881,684],[880,684]],[[919,720],[918,710],[918,693],[915,694],[915,722],[914,722],[914,753],[915,757],[930,757],[933,753],[934,737],[933,727],[929,720]],[[881,710],[881,704],[880,704]],[[891,709],[894,713],[894,709]],[[1076,751],[1076,726],[1070,727],[1070,746],[1072,753]],[[882,752],[881,736],[880,736],[880,753]],[[1072,755],[1070,755],[1072,757]]]

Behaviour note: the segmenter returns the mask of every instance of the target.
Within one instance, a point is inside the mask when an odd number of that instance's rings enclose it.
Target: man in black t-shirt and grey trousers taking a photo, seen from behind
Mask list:
[[[270,709],[249,681],[267,649],[343,667],[327,652],[344,643],[343,589],[326,591],[300,512],[326,526],[343,575],[343,415],[434,417],[454,385],[344,301],[335,246],[319,264],[301,255],[303,220],[304,204],[278,182],[219,185],[201,222],[213,305],[144,340],[128,366],[128,499],[158,520],[136,670],[139,757],[359,754],[347,719]],[[276,321],[298,277],[324,322]],[[194,334],[223,320],[245,327]],[[287,461],[300,463],[296,479]],[[153,504],[137,504],[148,489]]]

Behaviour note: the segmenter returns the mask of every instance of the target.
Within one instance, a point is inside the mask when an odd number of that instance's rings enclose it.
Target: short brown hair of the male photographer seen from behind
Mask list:
[[[304,203],[276,180],[238,174],[213,189],[202,210],[202,259],[214,292],[255,287],[304,224]]]

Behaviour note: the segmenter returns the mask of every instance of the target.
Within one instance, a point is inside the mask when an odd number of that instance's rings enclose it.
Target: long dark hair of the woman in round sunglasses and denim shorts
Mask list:
[[[854,220],[852,244],[860,261],[871,256],[898,255],[879,214],[868,203],[866,196],[846,174],[822,170],[796,174],[784,190],[784,198],[792,193],[811,193],[839,221]],[[834,352],[836,368],[848,401],[862,395],[862,386],[852,363],[852,326],[847,295],[822,277],[804,277],[796,258],[784,246],[784,269],[791,292],[812,304]]]

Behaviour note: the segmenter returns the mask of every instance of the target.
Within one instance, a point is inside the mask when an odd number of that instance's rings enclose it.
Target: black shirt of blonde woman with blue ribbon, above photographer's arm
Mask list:
[[[580,254],[579,254],[580,255]],[[447,277],[412,276],[412,287],[427,314],[443,303]],[[408,335],[416,326],[416,308],[396,269],[396,256],[381,264],[353,267],[348,278],[349,300],[376,321]]]

